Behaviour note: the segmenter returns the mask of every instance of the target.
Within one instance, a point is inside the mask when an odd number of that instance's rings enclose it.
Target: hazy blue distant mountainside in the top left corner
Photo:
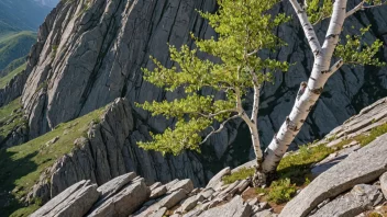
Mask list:
[[[5,32],[34,31],[52,10],[53,0],[0,0],[0,34]]]

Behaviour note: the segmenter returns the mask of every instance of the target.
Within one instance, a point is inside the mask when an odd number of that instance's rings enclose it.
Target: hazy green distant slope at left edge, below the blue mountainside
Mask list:
[[[13,60],[26,56],[35,42],[36,34],[33,32],[5,34],[0,37],[0,70]]]

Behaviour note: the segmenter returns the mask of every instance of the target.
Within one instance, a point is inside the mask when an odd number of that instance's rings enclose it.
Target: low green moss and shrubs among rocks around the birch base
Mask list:
[[[272,182],[269,187],[257,189],[257,194],[264,193],[265,199],[275,204],[283,204],[291,199],[297,192],[310,183],[312,179],[310,169],[335,150],[342,149],[345,145],[357,141],[361,146],[366,146],[378,136],[387,134],[387,123],[373,128],[368,133],[361,134],[351,139],[345,139],[336,146],[330,148],[325,144],[313,146],[313,144],[300,146],[297,152],[290,153],[283,158],[277,168],[277,181]],[[330,141],[332,139],[328,139]],[[243,168],[237,172],[223,178],[225,184],[233,183],[237,180],[244,180],[254,175],[254,169]]]

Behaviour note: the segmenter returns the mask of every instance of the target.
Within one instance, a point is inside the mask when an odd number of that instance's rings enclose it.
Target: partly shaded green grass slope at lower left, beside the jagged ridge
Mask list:
[[[0,214],[7,216],[26,216],[38,208],[38,205],[23,207],[20,199],[24,197],[38,181],[45,169],[49,168],[59,157],[70,152],[74,140],[85,135],[90,122],[98,119],[104,108],[91,112],[75,121],[60,124],[54,130],[29,142],[0,150]],[[53,145],[46,145],[55,137],[59,139]]]

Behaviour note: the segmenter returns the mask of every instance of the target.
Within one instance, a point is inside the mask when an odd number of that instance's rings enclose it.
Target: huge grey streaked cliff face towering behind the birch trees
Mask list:
[[[350,3],[350,7],[351,5]],[[192,44],[188,34],[208,38],[214,32],[195,9],[215,11],[214,0],[75,0],[62,1],[43,24],[26,73],[30,75],[22,95],[29,115],[30,136],[42,135],[62,122],[93,111],[124,96],[130,104],[178,98],[179,92],[164,92],[142,79],[141,67],[151,67],[152,55],[166,66],[167,44]],[[274,12],[292,14],[281,4]],[[366,39],[387,42],[386,8],[360,13],[346,22],[345,33],[373,24]],[[361,24],[360,24],[361,23]],[[321,24],[324,26],[324,23]],[[319,37],[324,33],[319,31]],[[266,84],[262,94],[259,126],[263,144],[268,144],[294,104],[299,83],[307,79],[311,55],[298,21],[278,28],[289,46],[275,55],[297,62],[288,73],[278,73],[275,84]],[[387,55],[386,50],[383,50]],[[387,69],[344,67],[325,87],[322,99],[297,142],[313,140],[327,134],[361,107],[387,94]],[[248,104],[250,102],[247,102]],[[133,106],[135,134],[162,132],[170,121],[152,117]],[[236,137],[236,128],[240,136]],[[203,149],[210,152],[207,162],[241,163],[247,160],[251,147],[244,125],[233,123],[211,138]],[[246,137],[247,138],[247,137]],[[247,140],[247,141],[246,141]],[[243,156],[243,157],[241,157]]]

